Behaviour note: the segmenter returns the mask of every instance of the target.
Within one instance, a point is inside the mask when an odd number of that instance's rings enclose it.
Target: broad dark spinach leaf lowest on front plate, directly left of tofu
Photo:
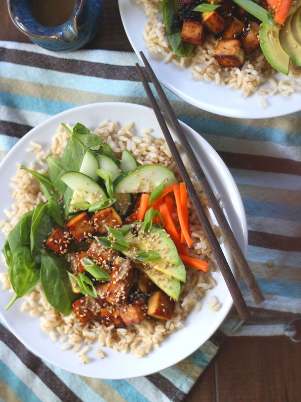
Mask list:
[[[49,304],[68,316],[76,294],[72,292],[68,278],[69,263],[48,252],[41,253],[41,284]]]

